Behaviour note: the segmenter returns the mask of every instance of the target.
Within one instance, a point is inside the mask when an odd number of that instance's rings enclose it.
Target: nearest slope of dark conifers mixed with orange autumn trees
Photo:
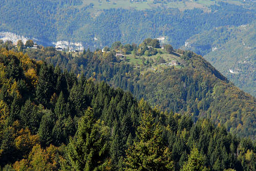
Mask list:
[[[14,51],[0,50],[1,170],[256,168],[255,142],[231,135],[222,124],[160,112],[130,92]],[[84,53],[88,63],[89,57],[100,61],[99,52]]]

